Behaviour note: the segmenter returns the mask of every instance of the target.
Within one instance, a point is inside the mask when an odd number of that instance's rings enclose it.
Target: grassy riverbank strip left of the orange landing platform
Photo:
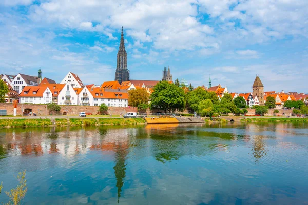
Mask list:
[[[102,126],[142,125],[141,118],[55,118],[55,119],[0,119],[0,128],[48,127],[48,126]]]

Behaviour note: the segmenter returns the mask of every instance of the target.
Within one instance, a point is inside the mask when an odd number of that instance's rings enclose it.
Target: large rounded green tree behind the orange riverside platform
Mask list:
[[[150,96],[151,109],[161,109],[169,112],[185,108],[185,92],[182,88],[167,81],[160,81],[153,88]]]

